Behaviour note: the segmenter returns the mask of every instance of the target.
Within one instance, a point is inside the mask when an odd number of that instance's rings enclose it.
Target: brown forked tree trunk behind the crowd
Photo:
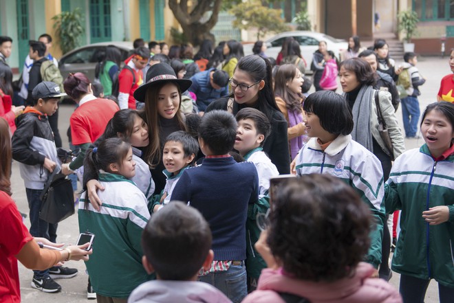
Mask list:
[[[199,45],[204,39],[215,41],[210,30],[217,23],[217,16],[221,10],[221,0],[191,1],[193,6],[188,7],[188,0],[169,0],[169,8],[175,19],[180,23],[183,34],[193,45]],[[201,22],[206,12],[211,12],[206,22]]]

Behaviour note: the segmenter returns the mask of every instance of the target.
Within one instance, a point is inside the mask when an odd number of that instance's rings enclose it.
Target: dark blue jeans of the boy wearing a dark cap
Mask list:
[[[25,188],[27,193],[28,207],[30,208],[30,234],[34,237],[42,237],[56,243],[57,224],[48,223],[39,218],[39,209],[41,208],[41,199],[39,196],[43,190],[32,190]],[[49,270],[34,271],[36,278],[43,278],[49,274]]]

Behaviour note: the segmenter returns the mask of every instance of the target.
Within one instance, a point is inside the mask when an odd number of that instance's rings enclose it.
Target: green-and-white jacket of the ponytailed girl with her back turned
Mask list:
[[[95,234],[93,254],[85,264],[96,293],[106,297],[127,298],[140,284],[149,280],[142,266],[142,230],[150,218],[147,199],[136,184],[120,175],[102,172],[98,191],[102,201],[98,212],[79,199],[80,232]]]

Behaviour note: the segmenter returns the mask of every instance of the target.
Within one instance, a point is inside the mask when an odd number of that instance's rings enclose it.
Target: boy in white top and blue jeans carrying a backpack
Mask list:
[[[419,89],[420,85],[426,82],[425,78],[422,78],[416,64],[418,64],[418,56],[413,52],[407,52],[404,54],[404,71],[408,72],[411,85],[406,89],[408,96],[402,98],[402,120],[404,120],[405,137],[415,138],[418,133],[418,120],[420,119],[420,102],[418,96],[421,92]],[[408,71],[405,71],[408,69]]]

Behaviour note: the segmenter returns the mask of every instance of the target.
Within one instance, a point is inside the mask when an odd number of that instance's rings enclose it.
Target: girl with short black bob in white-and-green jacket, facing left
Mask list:
[[[352,139],[354,122],[345,99],[333,91],[316,91],[303,104],[309,142],[296,156],[296,174],[320,173],[343,179],[358,192],[374,216],[371,247],[365,260],[378,268],[385,223],[383,171],[380,161]]]

